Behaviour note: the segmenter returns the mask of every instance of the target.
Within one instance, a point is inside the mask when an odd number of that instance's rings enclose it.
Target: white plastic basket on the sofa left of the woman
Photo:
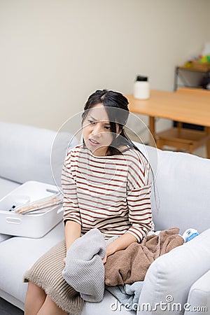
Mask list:
[[[59,188],[56,186],[27,181],[0,200],[0,233],[20,237],[43,237],[48,231],[62,221],[62,205],[40,214],[17,214],[10,211],[13,205],[34,202],[44,197],[50,197]],[[57,213],[58,212],[58,213]]]

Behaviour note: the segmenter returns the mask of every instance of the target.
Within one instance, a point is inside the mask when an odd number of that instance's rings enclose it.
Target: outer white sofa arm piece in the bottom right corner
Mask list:
[[[193,283],[188,294],[188,309],[185,314],[209,314],[210,311],[210,270]]]

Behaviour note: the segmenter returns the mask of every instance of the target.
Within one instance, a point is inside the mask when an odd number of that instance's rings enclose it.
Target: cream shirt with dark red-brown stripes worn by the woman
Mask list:
[[[141,241],[153,230],[149,165],[137,150],[95,156],[83,145],[67,155],[62,170],[64,221],[82,233],[98,228],[109,239],[129,232]]]

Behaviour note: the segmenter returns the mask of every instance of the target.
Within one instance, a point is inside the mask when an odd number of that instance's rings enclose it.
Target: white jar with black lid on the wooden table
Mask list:
[[[137,76],[134,82],[134,98],[148,99],[150,97],[150,85],[147,76]]]

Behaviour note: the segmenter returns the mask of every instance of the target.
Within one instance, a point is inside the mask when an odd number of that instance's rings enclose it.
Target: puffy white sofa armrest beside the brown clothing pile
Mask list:
[[[164,315],[164,307],[172,307],[174,303],[181,307],[175,309],[173,315],[184,314],[183,304],[188,300],[190,287],[210,268],[209,239],[210,229],[151,264],[139,297],[137,315]],[[148,303],[147,309],[141,309],[145,303]]]

